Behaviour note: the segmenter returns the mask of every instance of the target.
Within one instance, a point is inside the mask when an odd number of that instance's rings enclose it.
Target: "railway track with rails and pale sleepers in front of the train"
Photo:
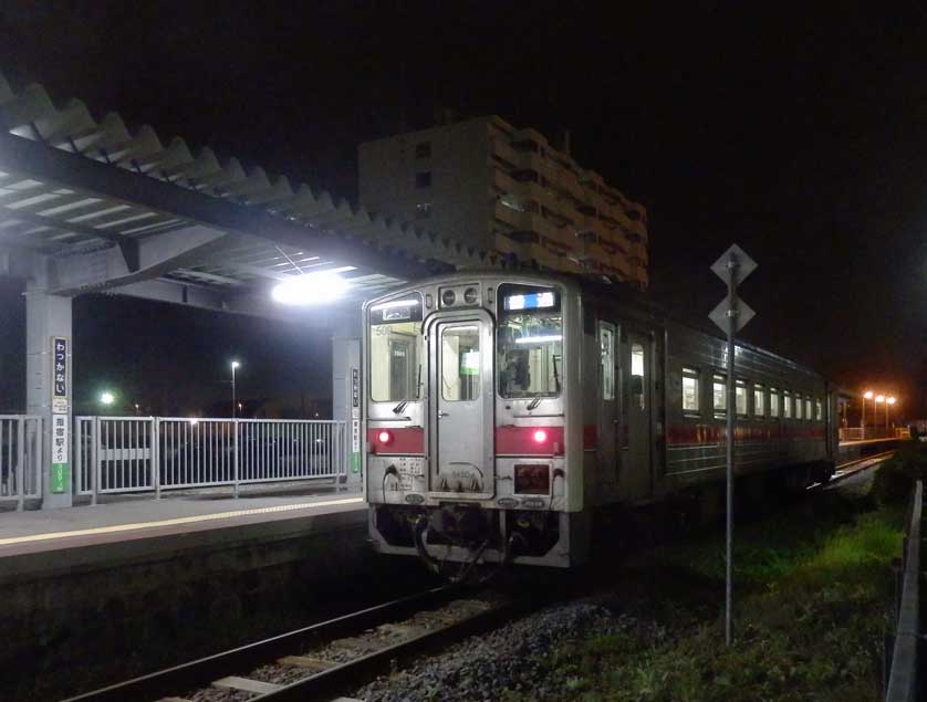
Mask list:
[[[416,656],[496,629],[542,604],[437,587],[64,702],[346,700]]]

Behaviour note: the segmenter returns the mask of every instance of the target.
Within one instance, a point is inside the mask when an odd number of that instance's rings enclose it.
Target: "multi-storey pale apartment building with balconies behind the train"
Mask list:
[[[647,211],[531,128],[479,117],[367,142],[361,205],[520,265],[647,286]]]

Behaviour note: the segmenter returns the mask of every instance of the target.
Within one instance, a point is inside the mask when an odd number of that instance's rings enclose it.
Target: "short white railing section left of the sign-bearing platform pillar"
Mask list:
[[[0,502],[42,495],[42,418],[0,415]]]

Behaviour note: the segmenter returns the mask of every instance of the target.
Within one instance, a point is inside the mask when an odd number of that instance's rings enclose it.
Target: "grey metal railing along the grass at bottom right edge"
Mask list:
[[[924,484],[914,489],[910,521],[905,536],[896,595],[896,624],[888,668],[885,702],[912,702],[918,694],[918,640],[920,639],[920,522]]]

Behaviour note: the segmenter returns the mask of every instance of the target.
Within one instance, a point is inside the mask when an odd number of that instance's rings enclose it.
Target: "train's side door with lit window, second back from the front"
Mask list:
[[[653,359],[648,336],[628,332],[622,370],[625,374],[627,412],[626,434],[623,438],[624,490],[632,499],[648,497],[652,493],[650,417],[653,412]]]

